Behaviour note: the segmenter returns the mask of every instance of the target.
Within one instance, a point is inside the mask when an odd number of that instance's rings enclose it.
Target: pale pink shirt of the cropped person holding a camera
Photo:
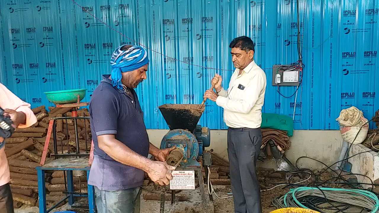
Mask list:
[[[0,107],[5,109],[16,110],[25,113],[26,124],[20,124],[17,128],[27,128],[37,122],[37,118],[33,111],[30,109],[30,104],[23,102],[19,97],[17,97],[13,92],[9,91],[4,85],[0,83]],[[0,139],[0,143],[3,139]],[[9,157],[9,156],[8,156]],[[9,183],[10,173],[8,160],[5,155],[5,146],[0,149],[0,186]]]

